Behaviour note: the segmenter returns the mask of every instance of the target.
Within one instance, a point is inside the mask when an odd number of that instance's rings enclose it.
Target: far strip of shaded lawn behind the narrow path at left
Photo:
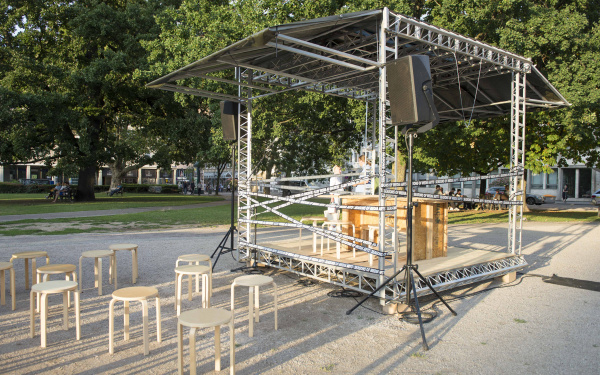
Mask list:
[[[137,207],[182,206],[220,201],[222,196],[125,193],[123,197],[96,194],[94,202],[68,202],[46,199],[43,194],[0,194],[0,215],[46,214],[53,212],[114,210]]]

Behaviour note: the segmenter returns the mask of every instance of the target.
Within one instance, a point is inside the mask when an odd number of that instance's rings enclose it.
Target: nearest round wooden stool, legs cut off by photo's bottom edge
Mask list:
[[[229,325],[229,372],[235,374],[233,312],[210,307],[184,311],[177,319],[177,370],[183,374],[183,326],[190,327],[190,375],[196,375],[196,330],[215,327],[215,371],[221,371],[221,326]]]

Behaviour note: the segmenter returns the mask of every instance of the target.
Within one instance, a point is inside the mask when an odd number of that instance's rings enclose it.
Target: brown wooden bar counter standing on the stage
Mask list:
[[[376,195],[342,195],[340,198],[343,205],[379,205],[379,197]],[[393,199],[388,199],[390,201],[393,202]],[[448,203],[435,199],[413,201],[418,202],[413,211],[413,261],[445,257],[448,251]],[[398,198],[397,205],[398,230],[406,231],[406,199]],[[342,220],[353,222],[357,236],[360,237],[369,225],[379,224],[379,213],[344,209]],[[377,241],[377,237],[375,240]]]

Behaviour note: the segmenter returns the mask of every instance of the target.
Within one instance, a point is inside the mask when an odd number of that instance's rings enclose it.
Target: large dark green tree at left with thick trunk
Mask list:
[[[102,164],[118,179],[150,162],[168,167],[172,161],[192,161],[206,120],[172,95],[144,88],[151,76],[143,44],[157,37],[154,15],[170,5],[3,2],[0,54],[7,63],[0,68],[0,82],[2,95],[13,100],[0,106],[23,113],[1,123],[0,137],[21,140],[2,149],[2,161],[76,165],[79,200],[94,199]],[[23,131],[29,132],[26,137]]]

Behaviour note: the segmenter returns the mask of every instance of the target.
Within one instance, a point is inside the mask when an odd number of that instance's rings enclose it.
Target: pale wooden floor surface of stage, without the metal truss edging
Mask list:
[[[298,233],[298,232],[296,232]],[[321,237],[317,236],[317,251],[313,252],[313,239],[312,234],[306,234],[304,232],[304,236],[302,239],[300,237],[296,238],[285,238],[285,239],[275,239],[270,238],[265,242],[259,242],[261,246],[283,250],[299,255],[306,255],[318,259],[332,260],[336,262],[342,262],[352,265],[359,265],[364,267],[377,268],[377,257],[373,256],[373,266],[369,266],[369,254],[357,251],[356,258],[352,256],[352,250],[345,250],[342,245],[342,249],[340,251],[340,259],[336,257],[336,243],[334,241],[330,241],[329,251],[327,250],[327,240],[323,241],[323,256],[321,256]],[[400,257],[398,259],[398,269],[400,269],[404,263],[406,262],[406,248],[404,247],[404,257],[403,253],[400,253]],[[428,276],[432,274],[436,274],[443,271],[453,270],[465,266],[472,266],[480,263],[493,262],[496,260],[510,258],[513,255],[500,252],[500,251],[487,251],[487,250],[476,250],[476,249],[468,249],[461,247],[448,247],[448,256],[443,258],[434,258],[428,260],[420,260],[417,261],[416,264],[419,265],[419,271],[423,276]],[[391,262],[391,260],[388,260]],[[391,276],[394,273],[393,268],[386,270],[386,275]]]

